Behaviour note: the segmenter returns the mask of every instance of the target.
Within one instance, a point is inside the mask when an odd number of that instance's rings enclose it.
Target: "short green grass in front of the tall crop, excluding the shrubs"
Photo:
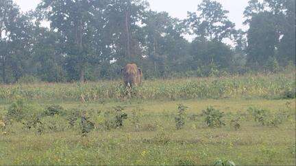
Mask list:
[[[209,105],[224,111],[226,126],[208,128],[203,117],[186,118],[182,130],[175,129],[177,104],[188,106],[187,117],[200,114]],[[249,107],[269,109],[276,113],[291,103],[293,116],[277,127],[260,126],[245,117],[241,128],[234,130],[229,121],[237,111]],[[209,165],[217,158],[237,165],[295,165],[295,100],[177,100],[150,102],[110,102],[82,104],[58,102],[66,109],[107,111],[116,105],[125,112],[140,108],[140,129],[127,120],[123,128],[95,129],[82,137],[75,128],[62,132],[23,130],[15,123],[13,132],[0,137],[0,165],[178,165],[189,162]],[[49,105],[40,102],[40,107]],[[231,114],[230,114],[231,113]],[[155,126],[149,130],[147,126]],[[8,130],[9,132],[9,130]]]

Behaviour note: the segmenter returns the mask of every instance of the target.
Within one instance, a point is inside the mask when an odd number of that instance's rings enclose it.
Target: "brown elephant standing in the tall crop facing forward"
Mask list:
[[[123,82],[127,87],[142,83],[143,72],[136,64],[127,64],[121,69],[121,73],[123,74]]]

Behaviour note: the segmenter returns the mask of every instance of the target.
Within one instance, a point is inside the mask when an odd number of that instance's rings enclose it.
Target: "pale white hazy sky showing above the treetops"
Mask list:
[[[21,7],[23,12],[36,8],[40,0],[14,0]],[[186,18],[187,11],[194,12],[197,5],[202,0],[147,0],[150,3],[151,10],[158,12],[168,12],[171,16],[177,18]],[[247,6],[248,0],[217,0],[228,14],[230,20],[236,24],[236,28],[245,29],[243,26],[243,11]]]

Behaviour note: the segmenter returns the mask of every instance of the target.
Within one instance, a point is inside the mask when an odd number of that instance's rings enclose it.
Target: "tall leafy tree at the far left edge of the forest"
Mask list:
[[[4,83],[29,72],[31,29],[31,20],[19,12],[12,0],[0,1],[0,64]]]

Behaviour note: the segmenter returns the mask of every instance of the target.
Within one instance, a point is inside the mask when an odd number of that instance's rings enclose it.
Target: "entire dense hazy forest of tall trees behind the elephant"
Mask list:
[[[27,13],[0,0],[0,83],[119,79],[129,62],[145,79],[295,66],[295,0],[250,0],[247,31],[227,13],[212,0],[184,20],[142,0],[42,0]]]

